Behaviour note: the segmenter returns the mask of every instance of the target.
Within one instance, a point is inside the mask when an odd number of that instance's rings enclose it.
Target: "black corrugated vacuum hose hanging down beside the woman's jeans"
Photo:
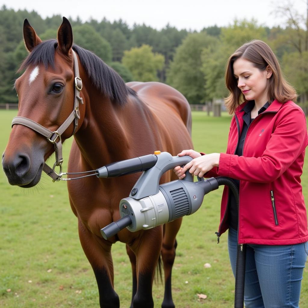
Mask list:
[[[234,180],[225,176],[216,177],[218,185],[228,185],[232,190],[237,204],[237,213],[239,213],[239,190]],[[246,245],[237,244],[236,252],[236,272],[235,272],[235,291],[234,308],[244,307],[244,288],[245,288],[245,266],[246,266]]]

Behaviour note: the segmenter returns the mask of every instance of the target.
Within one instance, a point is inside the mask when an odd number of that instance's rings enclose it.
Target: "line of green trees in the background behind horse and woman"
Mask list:
[[[301,14],[290,4],[277,6],[285,24],[269,28],[256,20],[234,20],[201,31],[178,30],[167,24],[157,30],[145,24],[129,27],[119,19],[110,22],[69,18],[74,43],[93,51],[125,81],[160,81],[183,93],[191,104],[212,102],[227,94],[225,64],[243,43],[261,39],[268,43],[282,65],[286,79],[297,89],[298,103],[308,113],[308,0]],[[27,10],[0,10],[0,103],[17,103],[12,90],[16,71],[27,56],[22,25],[27,18],[42,40],[55,39],[60,15],[43,19]]]

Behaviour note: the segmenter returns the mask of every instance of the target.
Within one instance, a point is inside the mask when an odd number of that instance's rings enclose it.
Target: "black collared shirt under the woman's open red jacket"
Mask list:
[[[250,123],[254,120],[254,119],[251,119],[251,111],[254,107],[254,104],[255,104],[254,100],[250,100],[245,105],[245,107],[241,110],[241,111],[245,112],[244,115],[243,115],[244,123],[243,123],[243,130],[241,132],[241,136],[239,137],[237,148],[236,148],[235,153],[234,153],[235,155],[238,155],[238,156],[243,155],[243,146],[244,146],[244,142],[245,142],[245,138],[246,138],[246,133],[247,133],[247,130],[249,128]],[[258,111],[258,115],[260,113],[262,113],[263,111],[265,111],[266,108],[269,107],[269,106],[270,106],[269,102],[265,103],[265,105]],[[238,186],[240,185],[239,180],[236,180],[236,179],[233,179],[233,180],[237,183]],[[238,228],[237,204],[236,204],[235,197],[234,197],[231,190],[229,190],[228,207],[229,207],[229,220],[228,220],[229,227],[237,230],[237,228]]]

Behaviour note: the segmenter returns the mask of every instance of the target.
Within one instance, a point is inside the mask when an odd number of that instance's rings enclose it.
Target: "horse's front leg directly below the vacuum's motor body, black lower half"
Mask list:
[[[134,308],[153,308],[152,284],[163,238],[161,226],[145,231],[131,248],[136,253],[137,292]]]

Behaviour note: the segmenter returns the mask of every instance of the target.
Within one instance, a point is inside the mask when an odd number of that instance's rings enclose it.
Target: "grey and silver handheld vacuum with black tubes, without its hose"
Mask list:
[[[191,160],[190,156],[171,156],[168,152],[162,152],[97,169],[98,177],[115,177],[144,171],[129,197],[120,201],[121,219],[101,229],[102,236],[108,239],[125,227],[132,232],[148,230],[195,213],[200,208],[204,195],[218,188],[215,178],[204,180],[198,177],[198,182],[193,182],[193,177],[187,172],[183,180],[159,185],[164,172]]]

